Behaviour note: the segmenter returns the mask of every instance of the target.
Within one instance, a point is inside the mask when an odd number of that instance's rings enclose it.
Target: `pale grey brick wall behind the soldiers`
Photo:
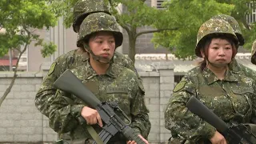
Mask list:
[[[170,132],[164,127],[164,109],[174,88],[174,67],[170,63],[156,66],[153,72],[141,72],[146,90],[146,105],[150,110],[149,142],[166,142]],[[12,74],[0,73],[0,96],[9,86]],[[34,106],[35,94],[43,74],[22,73],[0,107],[0,143],[54,142],[57,134],[48,120]]]

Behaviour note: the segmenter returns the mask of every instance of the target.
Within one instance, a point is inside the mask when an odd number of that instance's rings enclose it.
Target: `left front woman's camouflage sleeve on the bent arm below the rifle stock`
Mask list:
[[[74,130],[80,125],[78,117],[81,116],[82,107],[82,104],[74,104],[71,94],[58,90],[50,103],[50,127],[58,133]]]

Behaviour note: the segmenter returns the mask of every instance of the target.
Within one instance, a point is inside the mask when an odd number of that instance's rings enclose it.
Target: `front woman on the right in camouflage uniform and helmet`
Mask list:
[[[166,106],[165,126],[171,130],[173,141],[181,138],[186,139],[183,143],[225,144],[229,141],[186,108],[186,102],[192,96],[228,124],[249,123],[254,117],[254,80],[230,70],[228,66],[237,48],[238,39],[228,22],[210,19],[199,28],[195,54],[204,61],[175,86]]]

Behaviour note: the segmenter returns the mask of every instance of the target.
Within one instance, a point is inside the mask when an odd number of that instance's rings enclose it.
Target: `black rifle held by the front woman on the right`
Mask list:
[[[193,113],[198,115],[210,125],[214,126],[219,133],[228,138],[232,144],[255,144],[256,136],[244,125],[228,126],[221,118],[218,118],[211,110],[202,104],[197,98],[191,97],[186,103],[186,107]]]

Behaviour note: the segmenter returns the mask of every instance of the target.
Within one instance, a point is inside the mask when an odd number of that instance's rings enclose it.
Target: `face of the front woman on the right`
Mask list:
[[[233,54],[232,45],[226,39],[213,38],[208,47],[208,61],[216,67],[227,66]],[[202,54],[204,57],[205,55]]]

